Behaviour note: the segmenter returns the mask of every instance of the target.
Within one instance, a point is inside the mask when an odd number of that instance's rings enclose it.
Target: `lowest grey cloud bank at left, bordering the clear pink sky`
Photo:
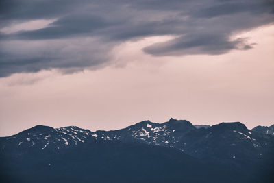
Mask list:
[[[32,43],[25,45],[24,40],[1,45],[0,77],[43,69],[60,69],[62,73],[90,67],[96,69],[110,60],[108,51],[113,47],[112,44],[101,44],[98,40],[87,38],[47,40],[42,45]]]

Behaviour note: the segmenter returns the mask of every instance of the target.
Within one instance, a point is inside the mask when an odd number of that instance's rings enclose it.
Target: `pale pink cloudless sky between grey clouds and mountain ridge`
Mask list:
[[[12,29],[22,27],[5,31]],[[0,136],[38,124],[116,130],[147,119],[162,123],[171,117],[192,124],[273,125],[274,25],[234,37],[248,38],[256,45],[222,55],[159,57],[142,48],[172,37],[149,36],[117,44],[109,53],[112,64],[108,66],[2,77]]]

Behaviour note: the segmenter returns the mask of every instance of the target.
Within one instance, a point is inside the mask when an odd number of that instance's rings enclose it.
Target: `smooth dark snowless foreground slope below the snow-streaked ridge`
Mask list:
[[[3,155],[3,154],[2,154]],[[3,159],[3,157],[5,157]],[[1,156],[1,182],[232,182],[232,167],[144,143],[88,141],[58,153]]]

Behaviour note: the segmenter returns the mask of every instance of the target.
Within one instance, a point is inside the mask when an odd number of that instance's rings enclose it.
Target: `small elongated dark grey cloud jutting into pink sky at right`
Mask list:
[[[245,39],[230,41],[224,35],[187,35],[175,38],[168,42],[156,43],[145,47],[146,53],[158,56],[166,55],[186,55],[186,54],[212,54],[219,55],[227,53],[232,49],[251,49]]]

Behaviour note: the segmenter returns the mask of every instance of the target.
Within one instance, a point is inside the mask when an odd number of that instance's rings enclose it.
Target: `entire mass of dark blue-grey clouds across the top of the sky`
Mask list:
[[[273,8],[273,0],[3,0],[2,28],[39,19],[55,21],[42,29],[0,32],[0,49],[5,55],[0,61],[0,77],[100,66],[108,63],[114,45],[146,36],[175,36],[144,49],[153,56],[251,49],[245,38],[231,40],[231,36],[273,23]],[[34,42],[42,46],[37,49]]]

